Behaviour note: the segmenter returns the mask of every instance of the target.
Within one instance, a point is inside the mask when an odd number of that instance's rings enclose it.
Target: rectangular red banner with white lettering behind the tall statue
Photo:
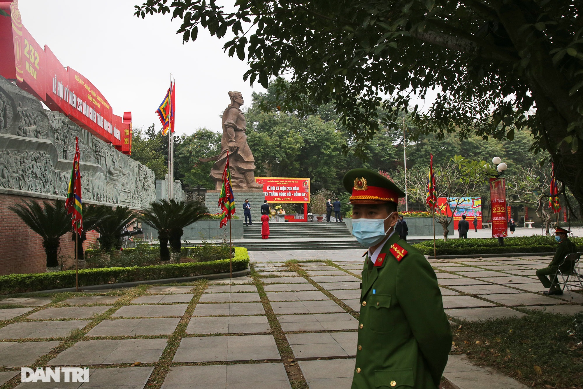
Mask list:
[[[265,200],[273,203],[309,203],[309,178],[255,177],[263,184]]]

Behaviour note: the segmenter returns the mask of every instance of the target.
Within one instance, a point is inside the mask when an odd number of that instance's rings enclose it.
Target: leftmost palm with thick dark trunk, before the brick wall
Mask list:
[[[59,266],[58,250],[61,236],[71,231],[71,216],[65,209],[65,202],[56,200],[54,205],[34,200],[10,207],[31,230],[43,238],[44,252],[47,255],[47,268]]]

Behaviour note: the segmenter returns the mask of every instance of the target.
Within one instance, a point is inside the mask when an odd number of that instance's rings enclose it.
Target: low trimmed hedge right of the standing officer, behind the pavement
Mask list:
[[[570,238],[583,251],[583,238]],[[413,244],[425,255],[433,255],[433,241]],[[554,252],[557,242],[554,237],[533,235],[532,237],[504,238],[504,246],[498,245],[497,238],[442,239],[436,240],[437,255],[480,255]]]

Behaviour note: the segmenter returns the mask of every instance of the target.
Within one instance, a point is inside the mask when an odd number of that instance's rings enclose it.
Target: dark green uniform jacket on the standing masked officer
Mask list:
[[[407,255],[397,261],[398,244]],[[451,350],[437,277],[427,259],[393,234],[373,267],[366,256],[352,389],[435,389]],[[370,263],[370,265],[369,265]]]

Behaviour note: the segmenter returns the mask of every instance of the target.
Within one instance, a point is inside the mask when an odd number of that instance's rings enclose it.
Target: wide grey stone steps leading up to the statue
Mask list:
[[[308,221],[269,223],[269,239],[261,239],[261,223],[243,226],[238,245],[248,250],[332,250],[363,249],[345,223]]]

